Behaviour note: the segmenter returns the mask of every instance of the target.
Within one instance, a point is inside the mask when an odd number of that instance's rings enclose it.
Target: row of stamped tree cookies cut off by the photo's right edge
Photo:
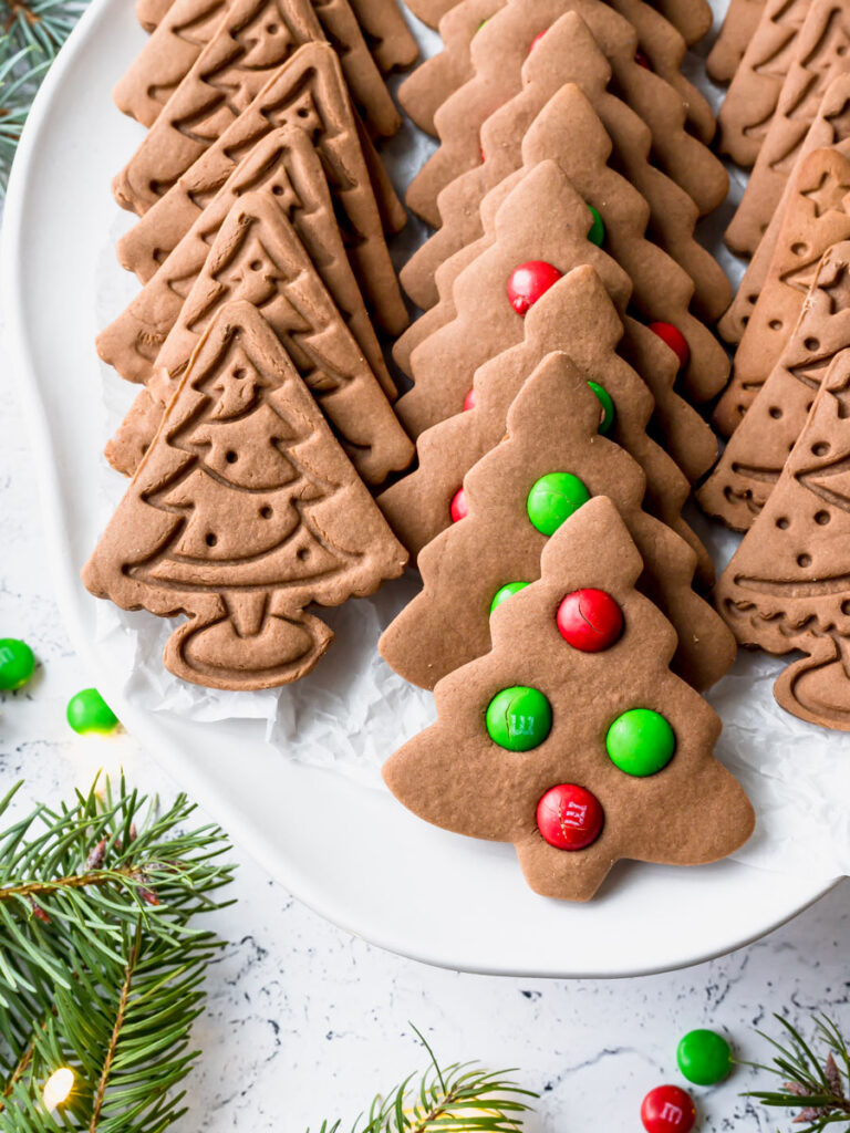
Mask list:
[[[741,645],[804,654],[782,707],[850,730],[850,6],[739,0],[708,66],[731,78],[721,147],[753,169],[726,231],[751,256],[720,323],[729,443],[698,493],[747,533],[719,608]]]

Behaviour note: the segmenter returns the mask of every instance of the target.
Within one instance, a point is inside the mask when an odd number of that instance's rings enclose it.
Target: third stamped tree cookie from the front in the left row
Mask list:
[[[396,384],[342,244],[322,162],[296,126],[273,130],[245,155],[142,291],[99,335],[101,358],[122,377],[146,381],[230,208],[245,193],[265,186],[291,221],[384,392],[394,399]]]

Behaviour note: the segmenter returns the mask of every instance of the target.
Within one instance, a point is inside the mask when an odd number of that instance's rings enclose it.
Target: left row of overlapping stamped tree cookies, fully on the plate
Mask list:
[[[311,603],[398,577],[369,488],[414,446],[373,325],[407,312],[406,220],[374,139],[416,44],[394,0],[139,0],[116,87],[148,127],[114,180],[143,284],[97,340],[138,397],[107,446],[131,477],[84,570],[125,608],[188,615],[164,661],[210,688],[296,680],[331,640]]]

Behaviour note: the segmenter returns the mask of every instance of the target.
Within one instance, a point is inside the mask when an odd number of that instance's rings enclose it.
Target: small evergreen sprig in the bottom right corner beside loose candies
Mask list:
[[[850,1130],[850,1053],[835,1023],[826,1015],[815,1022],[815,1045],[806,1042],[797,1028],[781,1015],[774,1016],[785,1031],[783,1040],[758,1031],[776,1054],[771,1065],[747,1063],[780,1079],[781,1089],[747,1094],[765,1106],[800,1109],[793,1124],[800,1133],[821,1133],[827,1125],[844,1123]]]

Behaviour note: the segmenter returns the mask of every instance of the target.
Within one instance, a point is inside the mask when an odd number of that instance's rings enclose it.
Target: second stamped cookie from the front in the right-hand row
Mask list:
[[[850,348],[850,242],[826,252],[782,356],[697,493],[709,514],[747,530],[764,508],[835,355]]]

